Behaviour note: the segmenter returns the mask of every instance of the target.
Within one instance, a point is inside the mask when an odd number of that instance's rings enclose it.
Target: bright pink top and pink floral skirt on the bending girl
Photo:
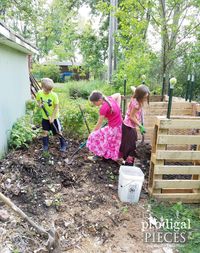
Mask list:
[[[99,114],[108,120],[108,125],[92,132],[87,140],[87,147],[97,156],[117,160],[122,137],[122,116],[120,107],[112,97],[103,102]]]

